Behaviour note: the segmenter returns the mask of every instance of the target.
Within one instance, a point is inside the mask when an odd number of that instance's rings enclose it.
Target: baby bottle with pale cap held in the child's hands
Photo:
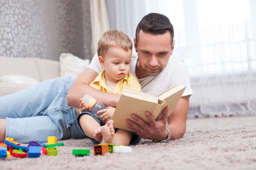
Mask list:
[[[105,109],[106,106],[102,102],[97,102],[96,99],[94,99],[89,94],[85,94],[82,98],[82,102],[84,102],[85,106],[88,106],[88,108],[91,110],[91,112],[99,118],[100,115],[103,113],[97,114],[97,111],[100,111],[102,109]]]

